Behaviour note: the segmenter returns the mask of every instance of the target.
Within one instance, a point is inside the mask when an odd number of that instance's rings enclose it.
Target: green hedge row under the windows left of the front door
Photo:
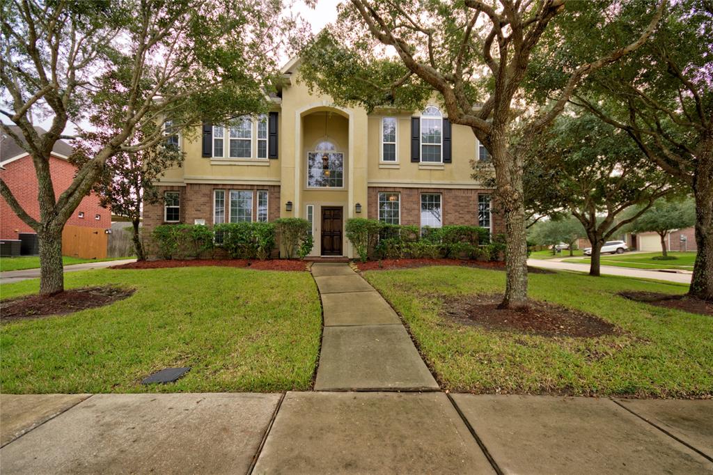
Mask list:
[[[274,223],[224,223],[160,225],[151,232],[155,253],[163,259],[214,257],[222,248],[234,259],[265,260],[272,255],[277,237],[287,257],[304,257],[312,250],[312,229],[307,220],[281,218]]]

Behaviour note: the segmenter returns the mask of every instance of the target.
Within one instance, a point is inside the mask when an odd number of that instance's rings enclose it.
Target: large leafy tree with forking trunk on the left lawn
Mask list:
[[[40,293],[63,290],[61,233],[108,158],[154,147],[163,121],[188,133],[202,119],[222,121],[265,108],[275,48],[290,26],[272,0],[8,0],[0,6],[0,113],[21,136],[3,131],[32,157],[39,219],[0,180],[14,212],[39,237]],[[51,122],[46,133],[33,116]],[[55,196],[50,153],[73,140],[69,123],[102,116],[113,129]],[[135,131],[148,130],[135,141]],[[82,136],[80,132],[79,137]]]

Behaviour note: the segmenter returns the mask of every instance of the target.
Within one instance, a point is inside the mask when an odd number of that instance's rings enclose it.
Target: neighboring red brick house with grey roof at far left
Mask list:
[[[19,128],[12,126],[18,136],[22,136]],[[45,133],[42,128],[36,127],[38,133]],[[76,168],[68,163],[67,158],[72,153],[71,146],[64,141],[57,141],[50,157],[50,173],[55,195],[59,196],[72,183]],[[37,200],[37,175],[32,163],[31,156],[21,148],[11,137],[5,133],[0,135],[0,176],[8,185],[15,198],[29,215],[39,219],[39,202]],[[111,213],[106,208],[99,205],[96,195],[88,195],[81,200],[80,205],[75,210],[71,218],[66,223],[67,226],[76,228],[91,228],[103,234],[104,230],[111,228]],[[67,230],[68,228],[66,228]],[[0,238],[3,240],[19,240],[21,235],[34,235],[34,230],[26,225],[14,211],[6,200],[0,200]],[[67,234],[67,233],[66,233]],[[65,234],[65,235],[66,235]],[[63,249],[76,247],[71,238],[63,235]],[[105,238],[106,239],[106,238]],[[81,243],[80,243],[81,244]],[[34,253],[34,252],[28,252]],[[72,255],[78,255],[72,252]],[[93,252],[97,254],[97,252]],[[104,255],[92,255],[91,257],[105,257]],[[78,257],[84,257],[78,255]]]

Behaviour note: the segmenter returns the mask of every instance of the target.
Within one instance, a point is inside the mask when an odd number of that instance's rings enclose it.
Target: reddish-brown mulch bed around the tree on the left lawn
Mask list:
[[[102,307],[133,295],[133,289],[119,287],[83,287],[65,290],[57,295],[44,297],[29,295],[0,302],[0,321],[24,320],[46,315],[66,315],[68,313]]]

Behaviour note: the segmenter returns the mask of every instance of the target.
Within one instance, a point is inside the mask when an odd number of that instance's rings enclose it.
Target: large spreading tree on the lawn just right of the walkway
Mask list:
[[[523,101],[530,56],[563,0],[350,0],[303,56],[302,75],[337,102],[413,111],[436,94],[451,123],[468,126],[493,158],[506,219],[506,292],[501,307],[527,305],[523,160],[531,138],[562,111],[580,81],[645,43],[663,10],[646,12],[627,44],[569,66],[539,104]],[[580,2],[605,28],[616,1]],[[588,31],[580,31],[586,43]],[[389,51],[395,52],[389,55]]]

